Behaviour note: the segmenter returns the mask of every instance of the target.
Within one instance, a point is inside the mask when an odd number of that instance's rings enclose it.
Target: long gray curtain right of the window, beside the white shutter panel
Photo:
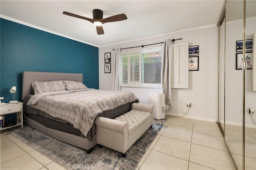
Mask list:
[[[161,92],[165,96],[165,108],[173,109],[172,103],[172,41],[165,40],[162,46]]]

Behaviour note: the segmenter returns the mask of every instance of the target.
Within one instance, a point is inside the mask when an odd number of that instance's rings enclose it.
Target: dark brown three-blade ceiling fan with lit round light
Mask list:
[[[96,25],[98,35],[104,34],[102,24],[107,22],[116,22],[116,21],[122,21],[127,19],[127,16],[125,14],[118,14],[118,15],[110,16],[108,18],[103,18],[103,12],[102,10],[99,10],[99,9],[94,9],[92,11],[93,19],[72,14],[66,11],[64,11],[63,14],[92,22],[94,25]]]

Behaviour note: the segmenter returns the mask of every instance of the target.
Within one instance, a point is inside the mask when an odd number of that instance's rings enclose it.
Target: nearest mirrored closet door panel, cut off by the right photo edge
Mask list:
[[[245,1],[245,114],[244,114],[244,169],[256,169],[256,0]],[[254,49],[253,49],[254,47]],[[254,51],[253,51],[254,50]],[[254,57],[253,57],[254,56]],[[253,63],[254,62],[254,63]],[[253,69],[252,69],[253,67]],[[254,71],[254,75],[252,74]],[[252,81],[254,80],[254,89]]]

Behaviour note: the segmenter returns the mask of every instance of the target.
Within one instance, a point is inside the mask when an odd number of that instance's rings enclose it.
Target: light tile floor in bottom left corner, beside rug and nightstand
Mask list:
[[[1,170],[66,170],[4,130],[0,141]]]

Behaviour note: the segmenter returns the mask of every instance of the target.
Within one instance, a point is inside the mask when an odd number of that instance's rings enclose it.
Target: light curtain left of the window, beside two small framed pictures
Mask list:
[[[114,57],[114,71],[113,71],[113,83],[112,90],[120,91],[120,83],[119,83],[119,56],[120,56],[120,48],[115,49],[115,57]]]

